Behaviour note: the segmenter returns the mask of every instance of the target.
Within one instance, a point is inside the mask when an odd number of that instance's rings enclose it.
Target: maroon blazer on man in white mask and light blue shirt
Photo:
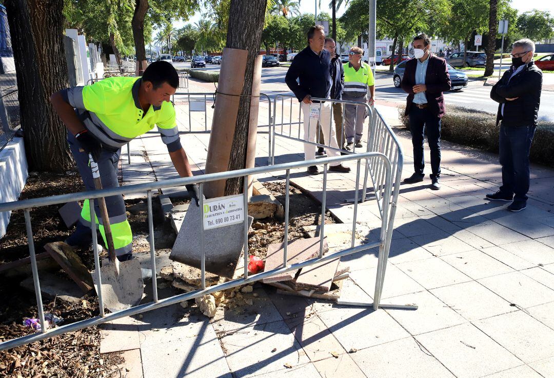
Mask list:
[[[408,94],[408,98],[406,99],[406,113],[404,113],[406,115],[409,113],[415,95],[412,88],[416,85],[416,67],[416,58],[408,60],[402,78],[401,87]],[[427,97],[428,109],[440,118],[444,115],[443,92],[445,90],[450,90],[451,86],[446,60],[433,54],[429,56],[427,72],[425,73],[425,85],[427,85],[425,96]]]

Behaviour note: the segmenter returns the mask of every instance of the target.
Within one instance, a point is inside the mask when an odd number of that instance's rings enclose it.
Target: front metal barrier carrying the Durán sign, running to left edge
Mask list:
[[[360,181],[360,170],[361,170],[361,163],[364,160],[367,159],[375,159],[375,160],[381,160],[382,165],[385,172],[385,180],[384,180],[384,192],[383,192],[383,217],[381,222],[381,233],[377,241],[370,242],[366,244],[361,244],[360,246],[355,246],[355,234],[356,234],[356,216],[357,216],[357,208],[358,208],[358,202],[355,201],[354,207],[353,207],[353,222],[352,222],[352,239],[350,248],[344,249],[343,251],[328,253],[325,256],[323,255],[323,243],[324,243],[324,237],[325,237],[325,210],[326,210],[326,191],[327,191],[327,166],[332,164],[337,164],[343,161],[356,161],[356,183],[355,183],[355,193],[356,197],[358,196],[358,187],[359,187],[359,181]],[[289,187],[290,187],[290,171],[294,170],[296,168],[306,168],[307,166],[314,165],[314,164],[323,164],[324,165],[324,180],[323,180],[323,187],[322,187],[322,203],[321,203],[321,229],[320,229],[320,251],[319,251],[319,257],[312,258],[310,260],[306,260],[301,263],[296,263],[292,265],[287,264],[287,245],[289,241]],[[284,222],[284,256],[283,256],[283,266],[280,268],[276,268],[273,270],[269,270],[268,272],[258,273],[250,275],[248,272],[248,176],[250,175],[259,175],[263,173],[271,173],[276,171],[285,171],[286,172],[286,179],[285,179],[285,222]],[[157,181],[152,183],[144,183],[140,185],[132,185],[132,186],[125,186],[125,187],[117,187],[117,188],[106,188],[104,190],[97,190],[97,191],[88,191],[88,192],[80,192],[80,193],[71,193],[66,195],[59,195],[59,196],[51,196],[51,197],[42,197],[42,198],[33,198],[29,200],[23,200],[23,201],[14,201],[14,202],[8,202],[8,203],[0,203],[0,212],[4,211],[16,211],[16,210],[23,210],[24,216],[25,216],[25,227],[27,228],[27,239],[29,243],[29,254],[30,254],[30,261],[31,261],[31,267],[33,272],[33,280],[34,280],[34,289],[35,294],[37,297],[37,306],[38,306],[38,314],[39,314],[39,320],[40,324],[44,323],[44,311],[43,311],[43,302],[42,302],[42,294],[40,292],[40,280],[38,275],[38,269],[37,269],[37,258],[35,255],[35,248],[34,248],[34,241],[33,241],[33,231],[31,227],[31,214],[30,210],[33,207],[40,207],[40,206],[48,206],[48,205],[57,205],[57,204],[63,204],[69,201],[80,201],[80,200],[86,200],[89,199],[91,204],[94,205],[94,200],[99,197],[106,197],[106,196],[114,196],[114,195],[124,195],[129,193],[144,193],[147,194],[147,205],[148,205],[148,229],[149,229],[149,241],[150,241],[150,256],[151,256],[151,269],[152,272],[156,272],[156,259],[155,259],[155,246],[154,246],[154,232],[153,232],[153,217],[152,217],[152,191],[153,190],[159,190],[162,188],[169,188],[169,187],[176,187],[176,186],[185,186],[188,184],[199,184],[199,192],[200,192],[200,207],[203,208],[203,190],[204,185],[207,182],[216,181],[216,180],[225,180],[228,178],[233,177],[242,177],[243,178],[243,206],[244,206],[244,213],[243,213],[243,237],[244,237],[244,275],[243,278],[233,279],[229,282],[220,283],[211,287],[206,287],[206,270],[205,270],[205,261],[206,261],[206,251],[204,246],[204,224],[203,219],[199,219],[200,222],[200,230],[199,238],[200,238],[200,257],[201,257],[201,279],[202,279],[202,289],[194,290],[193,292],[174,295],[170,298],[165,299],[158,299],[158,292],[157,292],[157,285],[156,285],[156,275],[152,274],[152,290],[153,290],[153,300],[150,303],[137,305],[135,307],[131,307],[126,310],[116,311],[115,313],[109,313],[106,314],[104,312],[104,304],[102,302],[102,293],[101,293],[101,285],[97,285],[96,290],[99,293],[99,308],[100,308],[100,315],[96,316],[95,318],[86,319],[77,321],[76,323],[66,324],[57,328],[51,328],[46,329],[45,326],[43,326],[42,331],[40,333],[35,333],[28,336],[23,336],[17,339],[12,339],[8,341],[3,341],[0,343],[0,350],[5,350],[9,348],[14,348],[16,346],[24,345],[27,343],[32,343],[34,341],[42,340],[45,338],[49,338],[51,336],[63,334],[66,332],[75,331],[78,329],[82,329],[88,326],[98,325],[102,323],[106,323],[108,321],[112,321],[115,319],[122,318],[124,316],[129,315],[136,315],[140,314],[144,311],[153,310],[156,308],[164,307],[171,304],[176,304],[179,302],[183,302],[184,300],[188,299],[194,299],[197,297],[201,297],[202,295],[218,292],[220,290],[227,290],[229,288],[237,287],[239,285],[243,285],[246,283],[252,283],[258,280],[261,280],[263,278],[268,278],[275,274],[280,274],[284,272],[289,272],[291,270],[300,269],[302,267],[306,267],[308,265],[316,264],[319,262],[324,262],[327,260],[332,260],[335,258],[340,258],[342,256],[347,256],[348,254],[357,253],[357,252],[363,252],[363,251],[370,251],[371,248],[379,247],[379,267],[381,267],[381,270],[378,270],[377,276],[376,276],[376,294],[381,293],[381,285],[384,278],[384,265],[386,265],[386,259],[387,259],[387,249],[386,249],[386,239],[390,239],[392,234],[392,229],[388,229],[389,224],[392,224],[392,222],[388,221],[387,214],[389,204],[391,203],[391,163],[389,162],[387,156],[381,154],[380,152],[363,152],[361,154],[351,154],[351,155],[345,155],[345,156],[336,156],[336,157],[327,157],[325,159],[319,159],[319,160],[311,160],[311,161],[300,161],[300,162],[291,162],[287,164],[281,164],[281,165],[274,165],[269,167],[255,167],[255,168],[248,168],[244,170],[238,170],[238,171],[230,171],[230,172],[219,172],[219,173],[212,173],[209,175],[202,175],[202,176],[194,176],[194,177],[186,177],[186,178],[175,178],[173,180],[164,180],[164,181]],[[357,200],[357,198],[356,198]],[[94,219],[94,206],[91,205],[91,219]],[[192,206],[192,205],[191,205]],[[94,262],[95,262],[95,269],[96,269],[96,278],[97,282],[101,282],[100,277],[100,258],[98,254],[98,248],[96,246],[96,224],[95,222],[91,222],[91,233],[93,235],[93,246],[94,246]],[[379,306],[379,295],[376,295],[375,301],[372,304],[374,309],[377,309],[378,307],[393,307],[393,308],[413,308],[411,306],[402,306],[402,305],[382,305]]]

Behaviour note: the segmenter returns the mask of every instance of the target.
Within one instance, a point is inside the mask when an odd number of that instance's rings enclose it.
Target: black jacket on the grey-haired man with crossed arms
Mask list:
[[[514,70],[514,66],[507,70],[490,91],[490,98],[499,103],[496,124],[502,121],[502,126],[509,127],[536,125],[538,105],[541,103],[542,71],[532,60],[510,79]],[[506,100],[516,97],[517,100]],[[501,113],[502,104],[504,116]]]

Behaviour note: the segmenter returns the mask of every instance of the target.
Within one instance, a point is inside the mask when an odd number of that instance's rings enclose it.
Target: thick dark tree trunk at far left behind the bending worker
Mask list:
[[[63,0],[4,2],[17,71],[19,112],[30,171],[64,172],[73,165],[67,129],[50,95],[69,86],[63,43]]]

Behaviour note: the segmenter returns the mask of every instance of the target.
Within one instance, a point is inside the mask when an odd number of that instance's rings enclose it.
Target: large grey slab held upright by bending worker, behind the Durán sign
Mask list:
[[[253,218],[248,217],[248,228]],[[177,235],[170,258],[174,261],[201,267],[201,222],[202,210],[189,206],[183,224]],[[206,271],[232,278],[244,247],[244,224],[230,224],[204,230],[204,252]]]

